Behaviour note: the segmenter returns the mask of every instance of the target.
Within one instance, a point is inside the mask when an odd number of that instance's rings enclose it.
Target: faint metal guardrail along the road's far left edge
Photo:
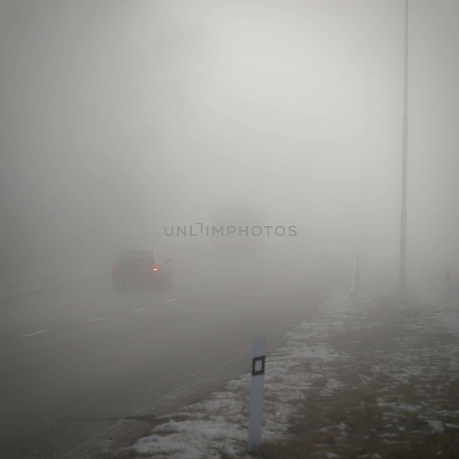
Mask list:
[[[43,290],[95,274],[110,272],[113,255],[29,269],[0,276],[0,298]]]

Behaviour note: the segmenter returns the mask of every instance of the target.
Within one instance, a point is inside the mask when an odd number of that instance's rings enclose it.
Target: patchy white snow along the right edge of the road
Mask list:
[[[379,293],[381,295],[381,292]],[[298,406],[312,389],[319,388],[320,397],[330,397],[334,392],[346,389],[346,384],[337,374],[337,364],[353,369],[362,355],[373,362],[365,374],[358,375],[356,384],[365,388],[378,378],[389,382],[381,387],[378,406],[385,410],[385,418],[395,431],[381,434],[384,442],[397,441],[397,432],[404,430],[399,420],[404,413],[420,414],[432,432],[456,429],[456,424],[442,420],[451,417],[453,411],[438,409],[436,403],[407,403],[395,397],[397,387],[415,381],[417,394],[432,393],[442,397],[446,383],[439,382],[445,368],[451,378],[459,371],[459,346],[456,343],[427,345],[425,335],[434,331],[459,332],[458,312],[448,310],[437,302],[435,308],[421,314],[410,324],[392,324],[371,316],[377,308],[374,292],[362,291],[357,302],[347,292],[339,292],[323,302],[315,316],[302,322],[286,335],[287,341],[266,359],[262,441],[288,440],[289,423],[297,416]],[[409,306],[408,306],[409,308]],[[362,346],[358,333],[398,333],[400,327],[408,330],[407,336],[393,336],[396,346],[368,349],[367,352],[352,352],[353,347]],[[349,341],[346,351],[333,340],[339,334],[348,334],[355,340]],[[350,348],[349,348],[350,347]],[[356,372],[358,373],[358,372]],[[222,392],[213,393],[208,399],[184,407],[178,413],[162,416],[164,421],[152,429],[151,435],[140,438],[133,446],[134,451],[151,454],[155,458],[204,459],[220,458],[223,453],[244,456],[247,440],[248,407],[251,375],[245,374],[229,381]],[[434,406],[435,405],[435,406]],[[438,403],[437,403],[438,405]],[[446,413],[445,413],[446,412]],[[346,438],[346,423],[323,429],[341,431]],[[320,446],[320,445],[318,445]],[[325,445],[324,445],[325,447]],[[320,449],[320,448],[319,448]],[[326,450],[318,451],[321,457],[339,457]],[[364,456],[362,456],[364,457]],[[377,453],[366,457],[378,457]]]

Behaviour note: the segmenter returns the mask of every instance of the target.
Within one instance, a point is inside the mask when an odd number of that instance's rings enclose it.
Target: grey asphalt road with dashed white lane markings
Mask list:
[[[87,458],[249,369],[333,287],[288,263],[183,263],[169,291],[109,273],[2,300],[0,457]],[[267,360],[269,365],[269,359]]]

